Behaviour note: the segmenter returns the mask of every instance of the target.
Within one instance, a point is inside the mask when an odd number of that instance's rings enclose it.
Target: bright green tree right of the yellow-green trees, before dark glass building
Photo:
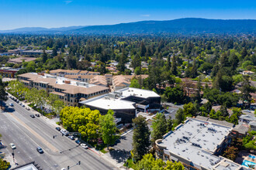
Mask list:
[[[107,145],[108,149],[109,145],[112,145],[116,139],[116,123],[113,114],[114,112],[112,110],[109,110],[106,115],[99,118],[102,140]]]

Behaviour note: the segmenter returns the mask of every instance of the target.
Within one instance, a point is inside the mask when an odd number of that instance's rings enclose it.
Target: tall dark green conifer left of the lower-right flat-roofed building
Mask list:
[[[135,129],[133,130],[133,158],[140,160],[147,154],[150,147],[150,131],[147,127],[146,119],[142,116],[133,119]]]

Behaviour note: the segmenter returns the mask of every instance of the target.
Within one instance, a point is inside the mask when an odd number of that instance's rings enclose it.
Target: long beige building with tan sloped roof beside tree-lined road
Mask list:
[[[108,87],[70,80],[61,76],[46,73],[24,73],[18,76],[20,82],[26,87],[46,90],[47,93],[56,94],[68,106],[78,106],[78,102],[87,100],[103,93],[108,93]]]

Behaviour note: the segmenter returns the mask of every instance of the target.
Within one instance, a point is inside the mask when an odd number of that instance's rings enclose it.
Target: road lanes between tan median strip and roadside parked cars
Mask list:
[[[40,135],[46,134],[47,135],[47,140],[50,140],[51,144],[55,143],[56,144],[55,146],[58,146],[60,151],[66,151],[66,150],[69,151],[69,153],[68,153],[69,158],[75,158],[76,156],[81,155],[81,150],[82,150],[81,147],[79,147],[78,150],[74,151],[73,148],[74,148],[74,145],[76,145],[74,143],[74,141],[71,141],[67,137],[60,138],[59,136],[61,136],[61,133],[59,131],[55,130],[54,128],[48,127],[46,125],[46,122],[44,120],[42,120],[42,117],[41,118],[36,117],[36,118],[33,119],[33,118],[28,116],[27,112],[29,112],[29,111],[24,109],[24,107],[21,107],[19,104],[14,104],[14,105],[15,105],[16,108],[17,107],[19,108],[19,112],[18,111],[15,112],[17,117],[19,115],[19,118],[21,118],[23,121],[26,121],[27,124],[29,124],[29,126],[33,126],[33,129],[35,131],[39,131]],[[16,109],[16,110],[18,110],[18,109]],[[32,120],[32,121],[30,121],[30,120]],[[43,131],[41,129],[43,129]],[[50,131],[53,134],[49,134],[48,132],[50,132]],[[57,138],[53,139],[53,135],[56,134],[56,133],[59,133],[59,134],[58,134]],[[61,145],[60,145],[60,143],[61,143]],[[90,167],[93,167],[94,169],[95,168],[109,168],[109,169],[113,168],[113,166],[110,165],[109,163],[106,163],[106,162],[103,162],[103,161],[95,162],[94,159],[97,160],[97,156],[95,156],[94,153],[92,153],[92,154],[88,153],[88,155],[90,155],[90,157],[84,157],[84,158],[86,159],[87,162],[88,162],[89,158],[92,158],[92,160],[90,162],[93,162],[94,165],[88,165],[86,168],[90,168]],[[74,160],[73,163],[78,162],[79,160],[80,159],[77,158],[77,159]]]

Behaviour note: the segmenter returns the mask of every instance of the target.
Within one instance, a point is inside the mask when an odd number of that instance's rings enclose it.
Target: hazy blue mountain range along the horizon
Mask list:
[[[168,21],[142,21],[108,26],[71,26],[54,29],[28,27],[0,31],[0,33],[30,34],[237,34],[256,33],[256,19],[174,19]]]

